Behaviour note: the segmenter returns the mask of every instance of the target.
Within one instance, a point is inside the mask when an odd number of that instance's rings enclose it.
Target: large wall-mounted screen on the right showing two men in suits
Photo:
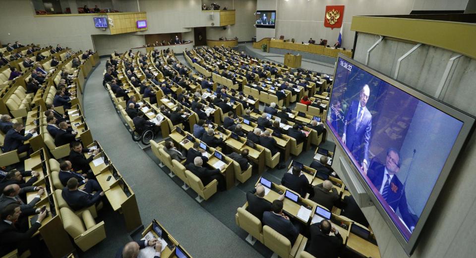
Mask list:
[[[342,54],[329,106],[330,135],[411,255],[475,118]]]

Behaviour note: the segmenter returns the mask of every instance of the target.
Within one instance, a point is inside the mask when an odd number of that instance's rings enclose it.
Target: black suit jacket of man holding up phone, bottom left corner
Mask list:
[[[9,252],[17,249],[21,242],[30,241],[30,238],[40,228],[40,223],[33,223],[26,232],[19,231],[16,227],[0,221],[0,256],[4,256]]]

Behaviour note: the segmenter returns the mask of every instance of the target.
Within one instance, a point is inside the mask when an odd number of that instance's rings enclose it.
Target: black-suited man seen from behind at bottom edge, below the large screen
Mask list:
[[[324,219],[309,227],[310,238],[305,251],[315,257],[337,258],[344,248],[339,231]],[[335,236],[330,236],[333,232]]]

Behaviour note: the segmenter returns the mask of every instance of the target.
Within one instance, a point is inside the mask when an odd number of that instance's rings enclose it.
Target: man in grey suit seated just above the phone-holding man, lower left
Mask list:
[[[28,204],[25,204],[23,200],[21,200],[21,198],[18,196],[23,193],[34,192],[34,191],[38,191],[37,195]],[[6,207],[9,204],[15,203],[20,205],[22,216],[28,216],[28,215],[38,213],[35,210],[35,205],[36,203],[40,201],[41,196],[43,195],[44,192],[45,190],[41,187],[27,186],[27,187],[20,188],[20,186],[17,184],[8,185],[3,189],[3,194],[0,196],[0,210],[2,210],[4,207]]]

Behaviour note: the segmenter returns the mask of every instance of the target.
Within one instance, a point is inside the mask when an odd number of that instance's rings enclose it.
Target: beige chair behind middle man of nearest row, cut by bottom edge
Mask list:
[[[276,253],[281,258],[295,258],[297,254],[297,249],[302,241],[302,235],[296,239],[296,242],[293,246],[291,246],[291,242],[281,235],[280,233],[276,232],[269,226],[263,227],[263,244],[271,249],[274,253]]]

